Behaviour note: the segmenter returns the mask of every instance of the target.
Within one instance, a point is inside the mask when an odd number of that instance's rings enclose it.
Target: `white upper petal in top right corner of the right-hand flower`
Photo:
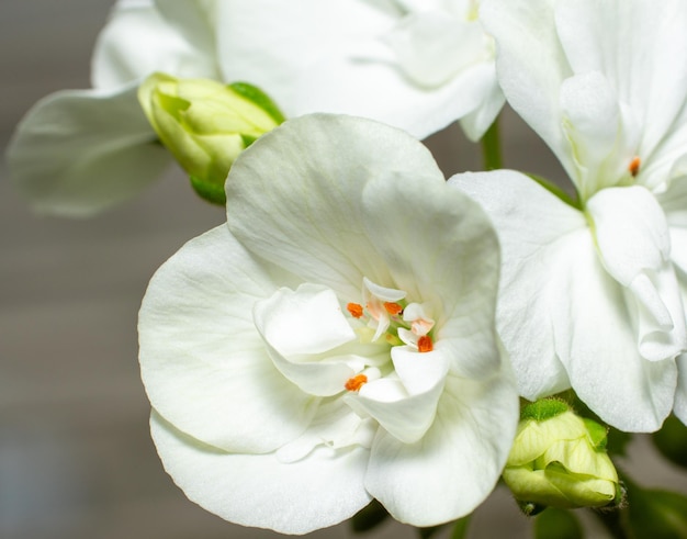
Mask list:
[[[687,99],[687,5],[667,0],[657,10],[652,0],[581,0],[558,2],[555,11],[573,70],[604,72],[642,119],[638,155],[649,156]]]

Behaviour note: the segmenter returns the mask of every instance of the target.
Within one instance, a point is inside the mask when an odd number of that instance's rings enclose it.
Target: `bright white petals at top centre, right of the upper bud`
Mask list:
[[[477,0],[217,2],[226,72],[288,115],[372,117],[424,138],[462,119],[478,139],[504,104]]]

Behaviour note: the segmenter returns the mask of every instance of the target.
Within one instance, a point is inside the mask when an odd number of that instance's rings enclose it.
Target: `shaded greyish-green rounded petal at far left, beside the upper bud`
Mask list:
[[[18,189],[42,213],[88,216],[133,198],[170,162],[138,105],[136,85],[48,96],[8,147]]]

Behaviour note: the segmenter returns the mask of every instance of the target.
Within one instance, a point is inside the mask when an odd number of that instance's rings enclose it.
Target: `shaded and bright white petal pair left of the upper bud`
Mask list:
[[[196,2],[121,0],[101,32],[90,90],[47,96],[8,147],[15,187],[34,210],[87,216],[135,196],[171,162],[136,92],[149,74],[218,78]]]

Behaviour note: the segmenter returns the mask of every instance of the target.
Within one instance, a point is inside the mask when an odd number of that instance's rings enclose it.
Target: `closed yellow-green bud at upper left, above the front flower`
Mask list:
[[[138,101],[196,192],[218,204],[238,155],[284,120],[269,97],[245,82],[154,74],[140,85]]]

